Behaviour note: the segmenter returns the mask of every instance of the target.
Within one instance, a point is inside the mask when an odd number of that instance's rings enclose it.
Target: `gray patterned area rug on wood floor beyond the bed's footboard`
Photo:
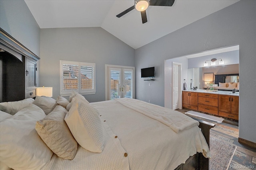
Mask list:
[[[227,170],[236,148],[231,143],[210,136],[210,170]]]

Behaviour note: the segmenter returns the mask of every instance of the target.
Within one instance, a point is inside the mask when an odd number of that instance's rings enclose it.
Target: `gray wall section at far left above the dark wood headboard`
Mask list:
[[[40,57],[40,28],[24,0],[0,0],[0,27]],[[40,60],[37,67],[39,84]]]

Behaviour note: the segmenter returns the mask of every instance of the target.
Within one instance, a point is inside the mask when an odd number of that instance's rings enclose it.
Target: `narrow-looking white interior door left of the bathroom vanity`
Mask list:
[[[179,65],[172,65],[172,109],[178,109],[179,104]]]

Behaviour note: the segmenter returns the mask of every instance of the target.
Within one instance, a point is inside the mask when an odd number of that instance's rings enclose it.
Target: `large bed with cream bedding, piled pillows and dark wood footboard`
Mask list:
[[[1,170],[173,170],[191,158],[208,168],[211,125],[165,107],[127,98],[89,103],[73,92],[70,100],[36,96],[0,109]]]

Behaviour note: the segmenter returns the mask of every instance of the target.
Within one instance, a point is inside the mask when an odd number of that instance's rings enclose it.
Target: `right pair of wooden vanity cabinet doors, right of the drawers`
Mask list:
[[[219,95],[219,116],[238,120],[239,96]]]

